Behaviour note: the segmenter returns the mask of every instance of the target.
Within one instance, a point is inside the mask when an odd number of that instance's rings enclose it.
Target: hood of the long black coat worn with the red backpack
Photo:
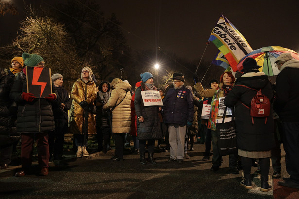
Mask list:
[[[248,72],[239,77],[235,85],[242,84],[250,88],[259,90],[269,83],[268,76],[264,72]]]

